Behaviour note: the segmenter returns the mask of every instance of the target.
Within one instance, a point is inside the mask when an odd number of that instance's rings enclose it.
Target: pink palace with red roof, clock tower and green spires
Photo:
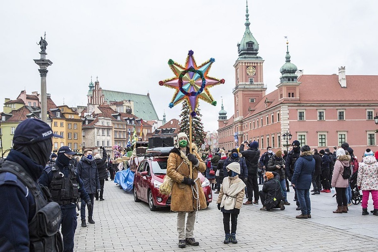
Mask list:
[[[260,149],[277,151],[298,140],[318,151],[332,151],[348,142],[359,160],[366,148],[377,151],[378,76],[349,76],[345,67],[338,75],[303,75],[291,63],[287,45],[277,89],[266,94],[264,60],[257,55],[259,45],[246,17],[234,64],[234,114],[227,119],[222,103],[219,147],[230,150],[248,140],[258,141]],[[286,142],[283,134],[288,132],[292,138]]]

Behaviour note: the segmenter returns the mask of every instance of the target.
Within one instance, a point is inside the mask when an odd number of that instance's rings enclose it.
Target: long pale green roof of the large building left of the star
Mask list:
[[[143,120],[159,119],[154,105],[151,102],[150,96],[141,94],[132,94],[119,91],[102,90],[107,104],[115,101],[131,100],[134,101],[133,113]]]

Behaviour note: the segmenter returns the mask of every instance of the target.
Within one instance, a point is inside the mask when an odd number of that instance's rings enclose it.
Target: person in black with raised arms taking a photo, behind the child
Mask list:
[[[250,144],[248,141],[245,141],[244,143],[249,146],[249,149],[244,151],[244,144],[241,144],[239,148],[241,155],[245,158],[245,163],[248,169],[248,200],[244,202],[243,205],[259,204],[259,184],[257,181],[257,166],[260,160],[259,143],[256,141]],[[255,201],[253,202],[254,195]]]

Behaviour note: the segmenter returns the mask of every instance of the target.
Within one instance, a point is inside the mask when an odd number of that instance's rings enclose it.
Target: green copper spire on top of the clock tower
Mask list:
[[[245,32],[240,43],[237,44],[237,52],[239,53],[239,59],[262,59],[258,56],[259,43],[249,30],[249,14],[248,14],[248,1],[246,1],[245,10]]]

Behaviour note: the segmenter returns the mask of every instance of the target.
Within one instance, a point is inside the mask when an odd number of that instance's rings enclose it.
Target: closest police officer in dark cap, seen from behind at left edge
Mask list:
[[[52,137],[60,138],[47,123],[26,119],[16,128],[13,149],[0,161],[0,251],[62,250],[59,205],[49,203],[48,192],[37,183],[49,161]],[[49,213],[46,225],[37,225],[37,212]]]

